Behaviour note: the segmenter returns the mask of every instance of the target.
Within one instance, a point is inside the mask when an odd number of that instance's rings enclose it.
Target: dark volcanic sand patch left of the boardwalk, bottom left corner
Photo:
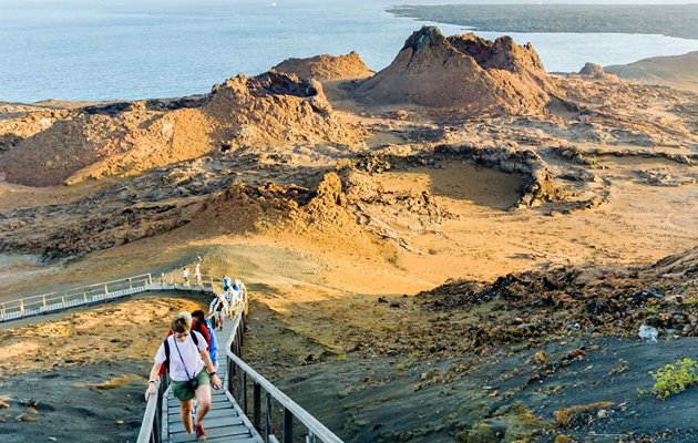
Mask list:
[[[50,351],[50,350],[47,350]],[[152,363],[114,361],[0,378],[0,442],[135,442],[145,412],[143,393]],[[112,389],[78,388],[133,374]],[[27,412],[28,405],[35,412]],[[32,422],[18,421],[22,414]]]

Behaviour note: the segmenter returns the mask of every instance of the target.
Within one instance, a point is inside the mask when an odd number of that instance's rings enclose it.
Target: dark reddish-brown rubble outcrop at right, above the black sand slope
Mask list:
[[[694,248],[650,266],[566,267],[510,274],[493,284],[455,280],[420,296],[435,310],[487,306],[465,328],[471,350],[584,333],[636,337],[643,324],[696,337],[697,274]],[[494,311],[500,317],[489,316]]]

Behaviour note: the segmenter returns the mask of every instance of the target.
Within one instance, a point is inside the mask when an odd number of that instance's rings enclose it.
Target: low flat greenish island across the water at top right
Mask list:
[[[439,4],[387,10],[490,32],[609,32],[698,40],[698,4]]]

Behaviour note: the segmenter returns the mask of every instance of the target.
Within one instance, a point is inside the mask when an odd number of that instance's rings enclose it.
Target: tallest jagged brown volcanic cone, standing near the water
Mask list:
[[[370,104],[533,114],[543,111],[555,87],[530,44],[473,33],[445,38],[438,28],[423,27],[357,92]]]

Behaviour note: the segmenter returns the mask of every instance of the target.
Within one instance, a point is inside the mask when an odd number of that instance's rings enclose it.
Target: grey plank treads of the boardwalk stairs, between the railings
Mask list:
[[[223,389],[212,389],[212,406],[211,411],[204,418],[203,425],[208,433],[206,442],[209,443],[261,443],[264,440],[255,431],[249,419],[243,413],[238,404],[232,396],[228,396],[225,392],[225,385],[228,370],[225,358],[225,343],[228,341],[233,331],[234,321],[228,319],[225,322],[223,331],[216,331],[216,338],[218,339],[218,369],[217,373],[223,380]],[[167,437],[163,439],[165,442],[182,443],[182,442],[197,442],[195,434],[186,434],[184,432],[184,425],[179,419],[179,401],[172,394],[172,390],[167,390],[167,406],[163,408],[163,415],[166,415],[166,420],[163,420],[163,433],[166,433]]]

